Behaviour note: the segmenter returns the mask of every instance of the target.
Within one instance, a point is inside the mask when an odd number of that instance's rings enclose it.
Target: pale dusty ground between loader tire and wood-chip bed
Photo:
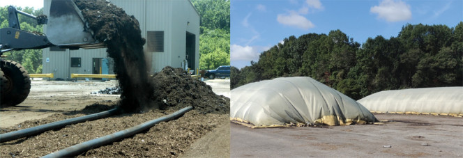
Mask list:
[[[17,106],[0,109],[0,128],[25,120],[46,118],[54,113],[84,109],[101,102],[116,102],[119,95],[91,95],[91,92],[114,87],[117,81],[32,81],[31,93]]]

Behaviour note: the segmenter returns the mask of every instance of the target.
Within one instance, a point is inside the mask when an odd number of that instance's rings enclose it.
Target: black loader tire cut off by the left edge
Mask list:
[[[27,70],[15,61],[0,61],[0,107],[15,106],[26,100],[31,90]]]

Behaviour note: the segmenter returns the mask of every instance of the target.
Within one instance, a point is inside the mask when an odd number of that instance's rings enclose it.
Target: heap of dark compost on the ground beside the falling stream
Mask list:
[[[181,68],[167,66],[153,75],[153,100],[160,109],[171,107],[181,109],[192,105],[202,113],[229,113],[230,99],[223,95],[215,95],[211,86],[202,81],[192,79],[190,74]]]

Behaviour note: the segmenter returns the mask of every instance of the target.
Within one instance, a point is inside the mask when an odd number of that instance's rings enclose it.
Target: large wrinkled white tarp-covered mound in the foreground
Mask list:
[[[230,119],[254,127],[350,125],[377,119],[350,97],[310,77],[259,81],[231,91]]]

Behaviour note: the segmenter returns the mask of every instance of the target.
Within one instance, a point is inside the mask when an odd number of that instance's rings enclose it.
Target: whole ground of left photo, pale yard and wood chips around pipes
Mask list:
[[[212,86],[214,93],[229,94],[229,80],[205,82]],[[116,81],[33,81],[31,94],[25,102],[0,109],[0,133],[112,109],[119,95],[90,93],[116,84]],[[85,106],[89,108],[84,109]],[[172,112],[168,109],[119,114],[0,143],[0,157],[44,156]],[[193,110],[177,120],[160,123],[142,134],[89,150],[79,157],[229,157],[228,119],[228,114],[204,114]],[[204,148],[204,143],[211,148]]]

